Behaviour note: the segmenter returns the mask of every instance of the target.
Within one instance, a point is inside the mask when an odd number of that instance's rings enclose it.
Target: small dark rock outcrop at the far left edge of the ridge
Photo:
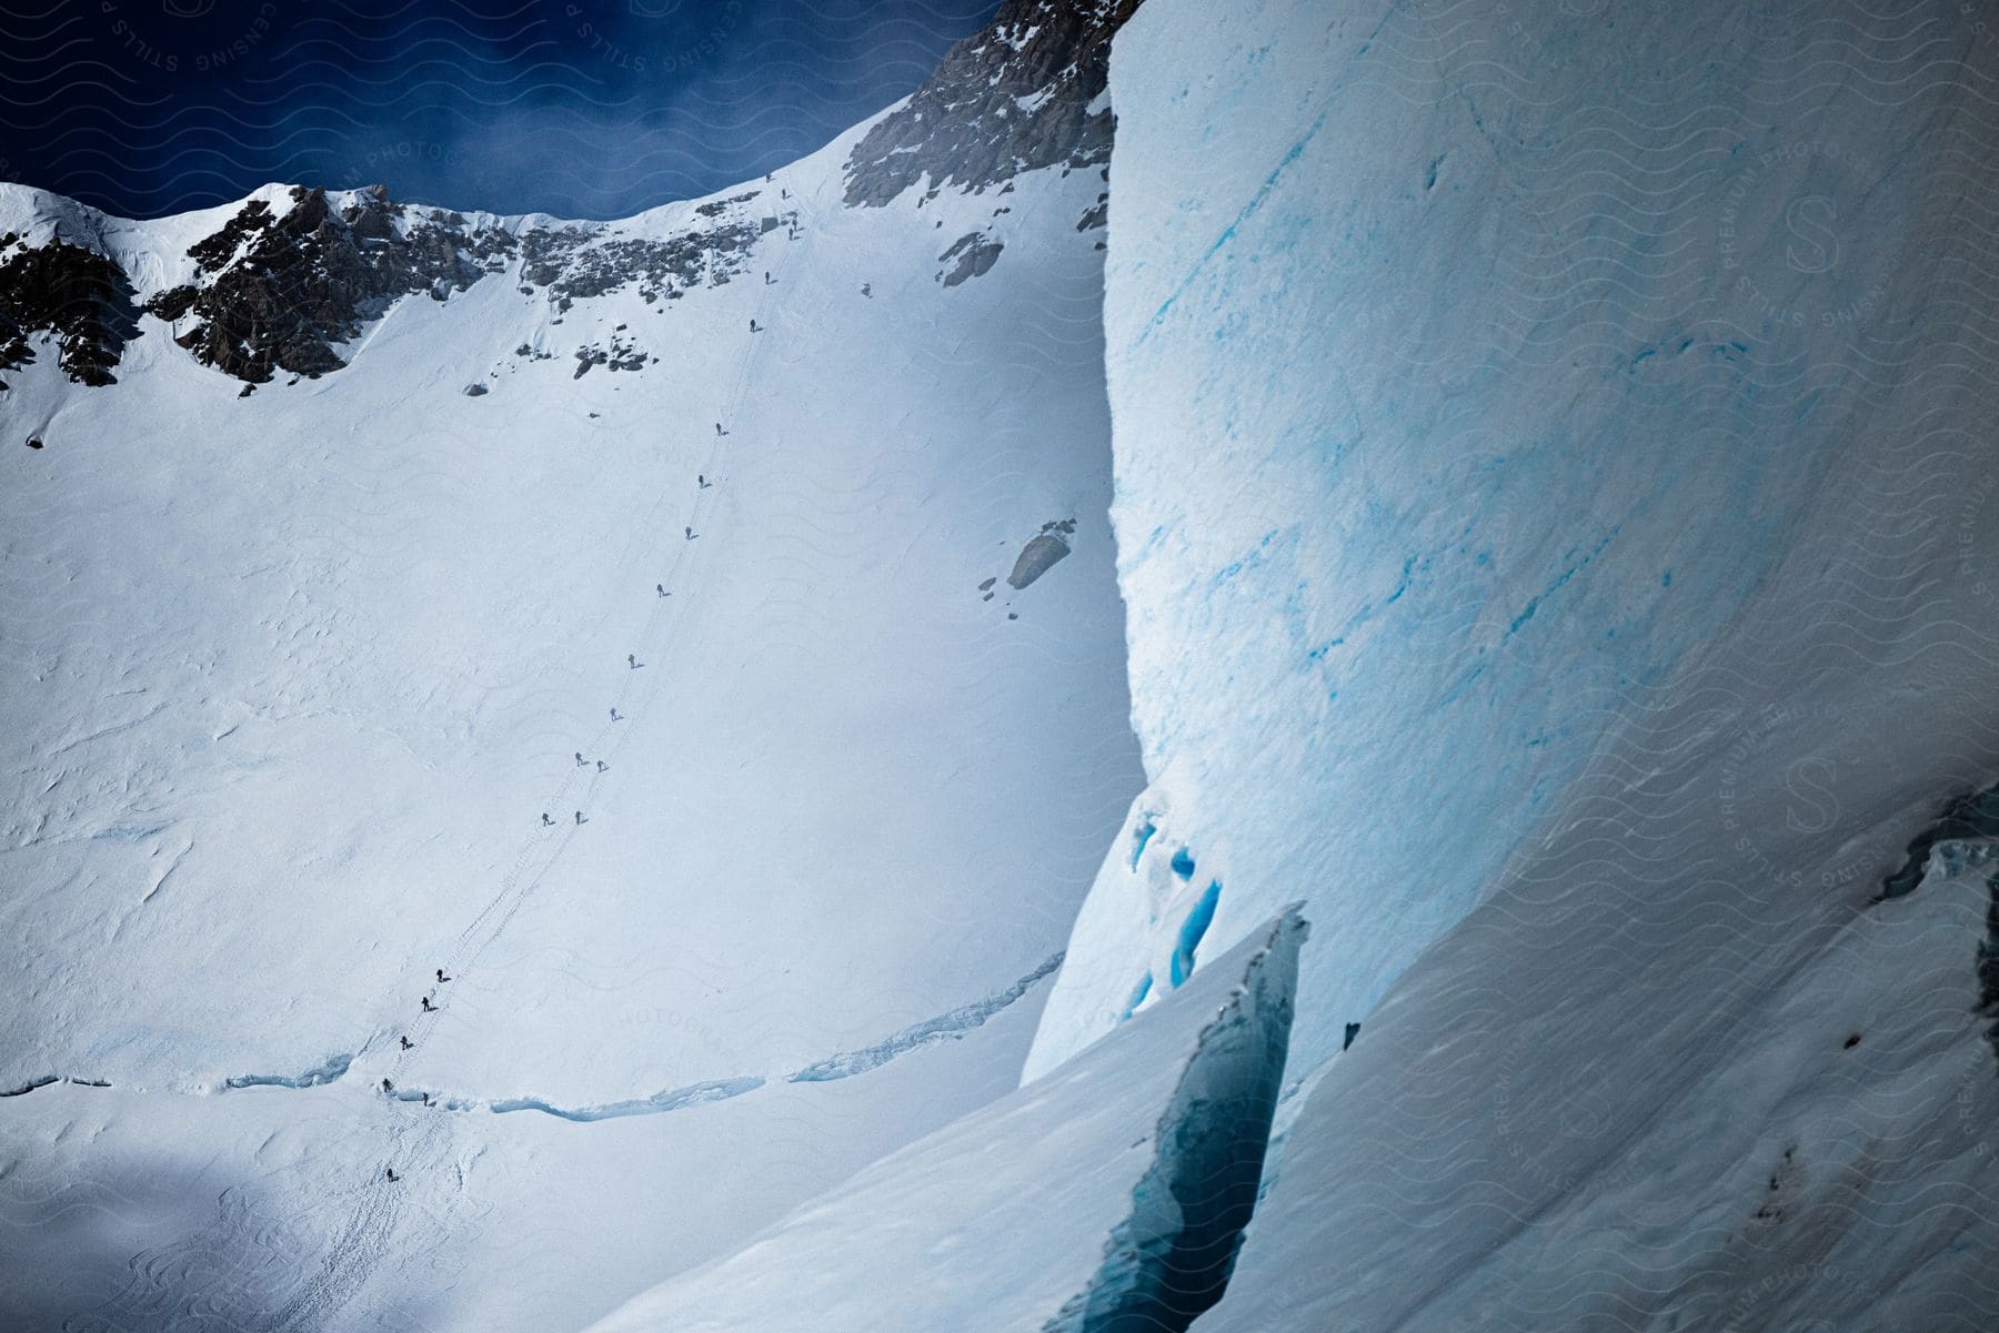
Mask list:
[[[28,248],[8,232],[0,236],[0,370],[32,362],[28,338],[42,332],[56,336],[56,364],[70,380],[116,384],[112,366],[140,334],[132,284],[102,254],[60,240]]]

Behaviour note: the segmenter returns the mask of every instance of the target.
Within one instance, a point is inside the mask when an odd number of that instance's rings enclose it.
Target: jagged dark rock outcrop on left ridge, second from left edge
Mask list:
[[[324,190],[292,190],[276,214],[250,200],[216,234],[188,248],[196,280],[160,292],[146,310],[194,316],[176,342],[238,380],[276,372],[322,376],[346,362],[334,344],[360,334],[386,304],[412,292],[444,300],[514,254],[498,226],[474,228],[444,210],[394,204],[380,186],[334,212]]]

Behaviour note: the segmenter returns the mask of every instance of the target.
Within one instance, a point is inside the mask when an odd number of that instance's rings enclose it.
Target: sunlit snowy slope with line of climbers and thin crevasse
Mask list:
[[[1101,170],[858,208],[866,130],[614,224],[0,190],[146,310],[0,376],[0,1323],[574,1325],[1011,1087],[1139,783]]]

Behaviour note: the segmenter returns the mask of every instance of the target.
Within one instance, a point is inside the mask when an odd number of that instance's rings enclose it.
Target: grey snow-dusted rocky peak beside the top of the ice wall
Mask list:
[[[928,178],[986,190],[1043,166],[1101,166],[1111,36],[1141,0],[1005,0],[848,158],[848,206],[882,206]],[[1091,110],[1093,108],[1093,110]]]

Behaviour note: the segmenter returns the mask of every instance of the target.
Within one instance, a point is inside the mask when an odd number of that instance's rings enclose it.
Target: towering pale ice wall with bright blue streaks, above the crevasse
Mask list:
[[[1125,26],[1105,324],[1151,785],[1029,1079],[1157,1003],[1199,915],[1225,947],[1297,895],[1321,1065],[1591,763],[1671,767],[1645,737],[1695,677],[1673,743],[1779,747],[1769,817],[1865,835],[1845,879],[1977,775],[1995,68],[1953,4]],[[1939,679],[1941,727],[1837,725]],[[1717,873],[1795,877],[1745,795],[1661,799]]]

